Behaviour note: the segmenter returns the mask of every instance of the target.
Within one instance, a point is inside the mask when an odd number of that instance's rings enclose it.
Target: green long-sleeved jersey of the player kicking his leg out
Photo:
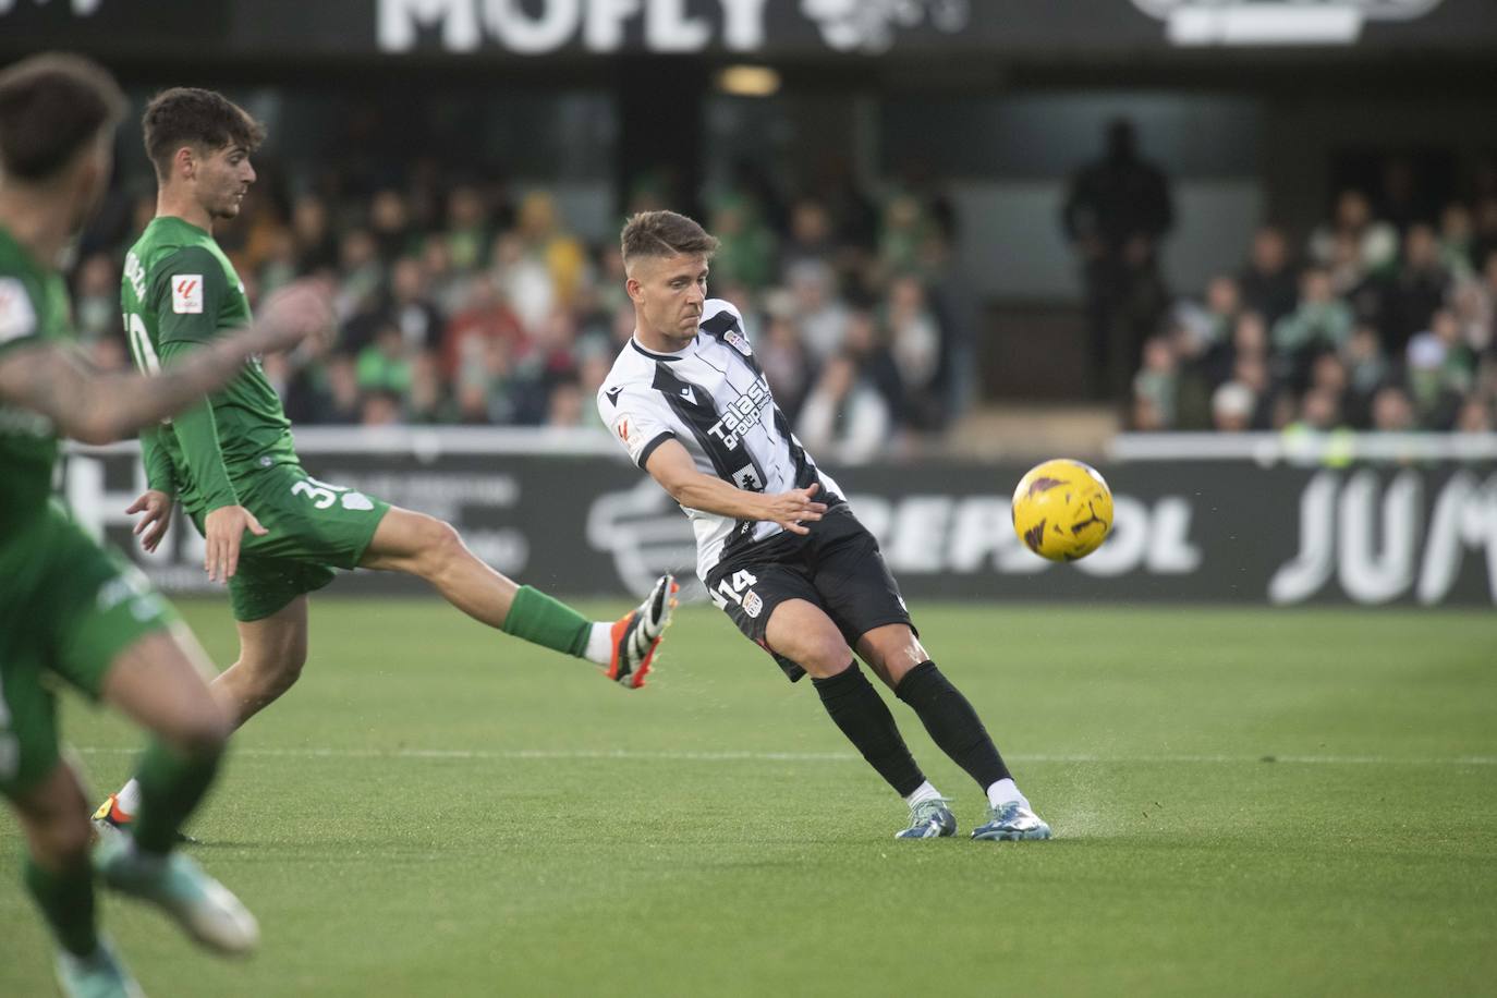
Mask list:
[[[153,374],[189,350],[250,325],[250,302],[213,236],[156,218],[124,259],[120,301],[136,367]],[[290,422],[259,359],[226,388],[141,434],[147,480],[189,513],[238,506],[244,476],[296,464]]]

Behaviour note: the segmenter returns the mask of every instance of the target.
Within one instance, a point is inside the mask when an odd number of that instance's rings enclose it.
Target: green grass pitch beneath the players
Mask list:
[[[231,661],[228,607],[183,609]],[[305,676],[192,827],[262,952],[219,962],[115,899],[106,928],[159,997],[1497,980],[1491,612],[915,609],[1055,841],[969,841],[982,795],[889,696],[961,821],[894,842],[904,805],[707,607],[627,693],[436,601],[319,599]],[[67,706],[112,789],[138,736]],[[48,994],[19,853],[0,821],[0,995]]]

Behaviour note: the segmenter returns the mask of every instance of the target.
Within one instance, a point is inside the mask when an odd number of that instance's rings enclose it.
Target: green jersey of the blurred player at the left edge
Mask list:
[[[37,343],[72,340],[63,278],[0,227],[0,359]],[[52,422],[0,401],[0,549],[46,509],[57,462]]]

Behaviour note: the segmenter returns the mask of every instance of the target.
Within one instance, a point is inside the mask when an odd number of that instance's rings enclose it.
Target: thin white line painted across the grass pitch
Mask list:
[[[139,748],[79,748],[91,756],[135,754]],[[587,748],[235,748],[235,756],[254,759],[618,759],[638,762],[855,762],[853,753],[756,753],[756,751],[633,751]],[[1446,759],[1397,759],[1392,756],[1009,756],[1031,763],[1295,763],[1314,766],[1497,766],[1497,756]]]

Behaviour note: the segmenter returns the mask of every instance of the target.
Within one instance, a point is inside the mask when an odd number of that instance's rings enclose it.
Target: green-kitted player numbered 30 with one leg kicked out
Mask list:
[[[150,102],[142,130],[157,206],[126,257],[121,301],[136,365],[150,373],[250,322],[244,286],[213,226],[238,214],[254,183],[250,154],[263,129],[222,94],[180,87]],[[301,675],[307,594],[332,581],[332,567],[419,576],[469,616],[587,658],[630,688],[644,684],[675,606],[666,575],[624,618],[588,621],[494,572],[449,524],[308,476],[257,365],[141,440],[150,488],[130,512],[144,513],[142,546],[156,549],[181,503],[207,540],[208,578],[229,587],[240,658],[213,691],[235,727]],[[138,800],[130,781],[94,820],[129,824]]]

